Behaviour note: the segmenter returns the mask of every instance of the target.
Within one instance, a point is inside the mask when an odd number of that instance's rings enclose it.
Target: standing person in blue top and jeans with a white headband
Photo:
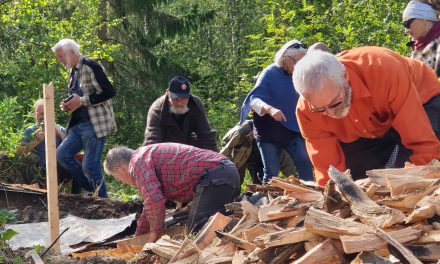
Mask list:
[[[292,82],[295,64],[305,53],[305,45],[298,40],[284,44],[275,54],[274,63],[258,77],[241,109],[240,122],[246,119],[251,109],[254,111],[253,133],[263,160],[263,183],[278,175],[281,149],[292,157],[300,179],[314,180],[304,138],[296,120],[299,95]]]

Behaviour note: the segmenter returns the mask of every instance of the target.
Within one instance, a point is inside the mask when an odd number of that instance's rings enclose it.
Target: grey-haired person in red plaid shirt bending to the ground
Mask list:
[[[132,150],[115,147],[107,153],[104,170],[136,186],[144,198],[135,236],[149,233],[151,242],[164,229],[165,201],[191,202],[187,228],[198,230],[240,193],[240,177],[225,156],[178,143],[159,143]]]

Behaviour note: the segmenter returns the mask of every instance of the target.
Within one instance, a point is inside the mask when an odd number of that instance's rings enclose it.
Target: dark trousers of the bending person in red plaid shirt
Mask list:
[[[240,194],[240,176],[229,160],[208,170],[196,185],[189,211],[187,231],[197,232],[217,212],[225,213],[225,204]]]

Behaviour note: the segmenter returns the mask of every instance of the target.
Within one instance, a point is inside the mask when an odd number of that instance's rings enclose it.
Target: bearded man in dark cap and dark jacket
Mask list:
[[[144,146],[175,142],[217,151],[216,131],[206,117],[205,106],[195,95],[187,79],[171,79],[165,95],[148,110]]]

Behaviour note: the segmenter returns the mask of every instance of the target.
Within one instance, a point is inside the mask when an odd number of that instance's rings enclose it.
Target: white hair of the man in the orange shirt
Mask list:
[[[321,50],[307,53],[296,65],[292,79],[295,90],[305,96],[318,92],[328,81],[336,85],[345,82],[345,67],[336,56]]]

